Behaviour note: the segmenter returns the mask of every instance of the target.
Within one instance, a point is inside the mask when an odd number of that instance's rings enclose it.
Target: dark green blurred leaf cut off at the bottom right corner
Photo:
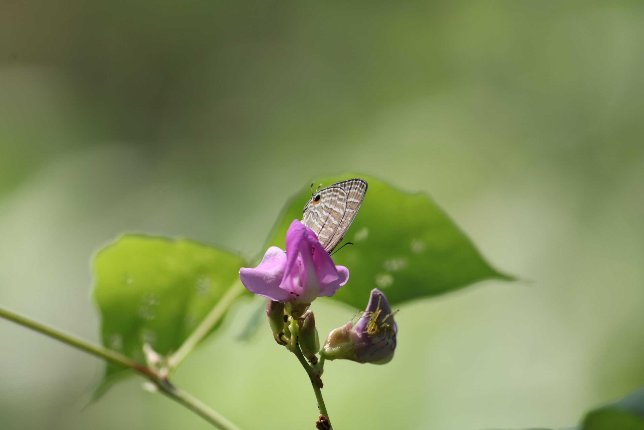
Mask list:
[[[583,430],[644,430],[644,388],[613,404],[594,409],[583,419]]]

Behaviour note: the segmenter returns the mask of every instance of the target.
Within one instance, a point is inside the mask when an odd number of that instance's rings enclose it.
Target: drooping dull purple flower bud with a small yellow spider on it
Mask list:
[[[355,326],[349,321],[328,335],[324,344],[325,357],[359,363],[388,363],[393,358],[397,331],[387,298],[374,288],[369,304]]]

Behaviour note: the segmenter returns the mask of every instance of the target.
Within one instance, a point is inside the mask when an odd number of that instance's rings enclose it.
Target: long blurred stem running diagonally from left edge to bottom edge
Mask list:
[[[160,377],[156,373],[156,371],[150,369],[144,364],[132,360],[131,358],[117,353],[116,351],[107,349],[104,346],[76,337],[75,335],[71,335],[70,333],[65,333],[64,331],[47,326],[46,324],[43,324],[41,322],[34,321],[31,318],[24,317],[23,315],[9,311],[8,309],[0,308],[0,317],[13,321],[23,327],[35,330],[39,333],[43,333],[43,335],[52,337],[56,340],[60,340],[64,344],[68,344],[75,348],[81,349],[81,351],[85,351],[86,353],[90,353],[91,355],[95,355],[96,357],[104,358],[105,360],[114,364],[118,364],[119,366],[134,369],[141,375],[145,376],[147,379],[151,380],[156,385],[156,387],[158,387],[161,393],[168,396],[172,400],[175,400],[175,402],[177,402],[178,404],[187,407],[187,409],[190,409],[197,415],[201,416],[207,422],[213,424],[218,429],[240,430],[239,427],[232,424],[229,420],[224,418],[216,411],[213,411],[213,409],[206,406],[200,400],[197,400],[185,391],[172,386],[172,384],[170,384],[170,382],[166,378]]]

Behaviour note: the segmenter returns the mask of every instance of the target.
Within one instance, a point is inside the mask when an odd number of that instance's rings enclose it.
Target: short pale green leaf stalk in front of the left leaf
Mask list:
[[[182,364],[186,357],[193,349],[212,331],[213,327],[222,319],[223,315],[230,309],[236,298],[240,297],[245,288],[240,280],[232,284],[231,288],[226,291],[222,298],[219,299],[214,308],[202,320],[199,326],[194,329],[193,333],[184,340],[184,343],[171,355],[167,360],[167,368],[170,374],[174,373],[176,368]]]

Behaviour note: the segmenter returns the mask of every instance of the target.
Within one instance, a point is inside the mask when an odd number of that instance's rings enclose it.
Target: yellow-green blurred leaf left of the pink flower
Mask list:
[[[103,344],[142,363],[144,343],[161,355],[176,351],[246,265],[231,251],[193,240],[120,237],[93,260]],[[122,370],[108,364],[101,386]]]

